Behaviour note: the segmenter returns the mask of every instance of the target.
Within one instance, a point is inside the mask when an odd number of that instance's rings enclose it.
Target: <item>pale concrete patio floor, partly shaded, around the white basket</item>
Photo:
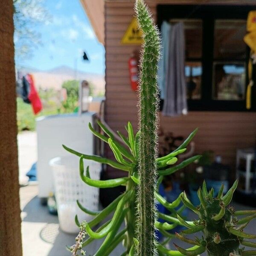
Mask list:
[[[74,243],[75,235],[64,233],[60,230],[58,217],[50,215],[47,207],[40,204],[37,197],[38,186],[29,185],[20,188],[20,204],[22,217],[22,239],[24,256],[71,256],[66,250],[66,245]],[[236,209],[248,209],[240,204],[233,204]],[[190,219],[195,215],[191,212]],[[252,221],[245,229],[248,233],[256,233],[256,220]],[[177,244],[183,245],[180,241]],[[102,240],[96,240],[86,247],[86,255],[93,255]],[[172,243],[170,244],[172,247]],[[187,245],[184,244],[184,247]],[[111,253],[111,256],[120,256],[123,252],[122,245]],[[202,254],[201,256],[204,256]]]

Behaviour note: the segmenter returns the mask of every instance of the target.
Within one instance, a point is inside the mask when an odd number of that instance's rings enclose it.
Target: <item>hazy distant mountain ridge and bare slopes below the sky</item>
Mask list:
[[[87,80],[94,85],[94,93],[102,93],[105,90],[105,78],[103,75],[86,73],[81,70],[75,71],[67,66],[59,66],[50,70],[42,71],[22,67],[19,69],[22,73],[31,73],[35,79],[37,88],[59,90],[64,81],[67,80]]]

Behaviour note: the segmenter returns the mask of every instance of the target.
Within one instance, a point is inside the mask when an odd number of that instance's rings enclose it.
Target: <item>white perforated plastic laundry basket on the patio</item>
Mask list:
[[[99,189],[85,184],[79,175],[79,157],[55,157],[49,161],[54,177],[55,198],[58,209],[58,219],[61,230],[67,233],[77,233],[75,224],[77,214],[79,221],[90,221],[93,217],[81,211],[76,200],[82,206],[99,209]],[[99,180],[101,164],[84,160],[84,169],[89,166],[90,177]],[[85,174],[84,174],[85,175]]]

